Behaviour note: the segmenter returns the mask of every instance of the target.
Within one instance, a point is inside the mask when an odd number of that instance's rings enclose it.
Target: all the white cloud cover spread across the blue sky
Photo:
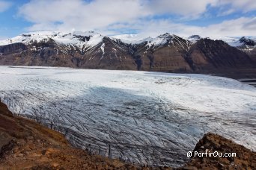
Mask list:
[[[235,11],[256,10],[255,0],[31,0],[19,8],[19,16],[33,25],[29,31],[96,30],[103,34],[121,34],[135,30],[139,37],[165,32],[180,36],[200,34],[204,37],[255,36],[255,17],[239,17],[206,27],[185,25],[171,19],[156,19],[175,14],[195,19],[207,13],[208,7],[226,9],[220,15]]]

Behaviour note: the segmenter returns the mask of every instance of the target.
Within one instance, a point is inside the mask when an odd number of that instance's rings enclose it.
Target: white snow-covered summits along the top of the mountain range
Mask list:
[[[36,31],[27,34],[21,34],[17,37],[13,37],[7,40],[1,40],[0,45],[9,45],[12,43],[22,42],[25,45],[31,45],[34,42],[48,42],[49,40],[54,40],[60,45],[74,45],[79,48],[93,47],[103,41],[102,34],[95,31],[73,31],[72,33],[64,33],[59,31]],[[165,45],[166,42],[171,42],[177,36],[174,34],[162,34],[158,37],[152,38],[147,37],[145,39],[139,40],[136,34],[124,34],[109,37],[115,41],[121,41],[126,44],[138,45],[143,42],[147,42],[147,46],[159,46]],[[195,43],[198,40],[203,39],[199,35],[192,35],[190,37],[183,37],[184,40]],[[231,46],[240,47],[241,45],[247,45],[250,47],[255,47],[256,37],[223,37],[219,40],[227,42]]]

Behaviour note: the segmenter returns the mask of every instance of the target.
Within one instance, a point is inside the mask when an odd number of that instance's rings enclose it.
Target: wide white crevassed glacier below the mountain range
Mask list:
[[[256,150],[256,89],[228,78],[0,66],[1,101],[91,153],[180,166],[207,132]]]

